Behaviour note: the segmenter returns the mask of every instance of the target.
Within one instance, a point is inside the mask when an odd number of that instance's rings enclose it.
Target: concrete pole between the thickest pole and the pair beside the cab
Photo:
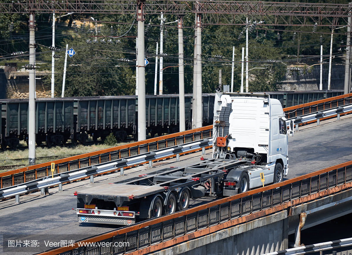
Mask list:
[[[184,112],[184,66],[183,66],[183,17],[177,19],[178,28],[178,90],[180,93],[180,132],[186,131],[185,112]]]

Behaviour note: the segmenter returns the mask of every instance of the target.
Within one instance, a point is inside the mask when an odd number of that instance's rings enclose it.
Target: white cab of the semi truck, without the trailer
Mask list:
[[[216,93],[213,158],[250,160],[265,166],[265,183],[281,182],[288,174],[288,134],[281,103],[266,93]],[[248,174],[249,188],[260,176]],[[240,181],[240,180],[237,180]]]

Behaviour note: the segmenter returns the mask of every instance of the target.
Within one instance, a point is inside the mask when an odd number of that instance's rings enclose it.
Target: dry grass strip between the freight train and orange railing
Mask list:
[[[119,146],[126,143],[129,143],[129,142],[120,142],[114,145],[97,143],[93,145],[84,146],[82,144],[78,144],[77,146],[73,146],[73,147],[56,146],[51,148],[40,146],[40,147],[36,147],[36,158],[40,158],[40,157],[50,157],[50,158],[36,159],[36,164],[49,162],[52,160],[57,160],[62,158],[67,158],[69,156],[80,155],[83,153],[94,152],[97,150],[107,149],[107,148]],[[23,141],[20,141],[20,146],[27,146],[27,144],[24,143]],[[22,160],[19,160],[19,159],[22,159]],[[5,150],[0,153],[0,166],[12,166],[12,165],[20,165],[20,164],[29,166],[28,149]],[[21,166],[21,167],[24,167],[24,166]],[[17,169],[17,168],[20,168],[20,167],[13,167],[10,170]],[[10,170],[0,169],[0,173],[10,171]]]

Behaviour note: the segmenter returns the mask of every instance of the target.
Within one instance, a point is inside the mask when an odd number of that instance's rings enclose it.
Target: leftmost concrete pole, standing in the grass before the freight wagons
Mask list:
[[[29,16],[29,64],[34,63],[34,31],[35,31],[34,13]],[[28,161],[29,165],[36,164],[36,101],[34,96],[36,94],[34,88],[35,74],[34,69],[29,70],[29,103],[28,103]]]

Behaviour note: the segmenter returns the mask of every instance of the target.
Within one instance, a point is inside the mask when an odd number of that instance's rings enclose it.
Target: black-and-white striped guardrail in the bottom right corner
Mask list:
[[[336,240],[332,242],[310,244],[310,245],[301,246],[297,248],[275,251],[275,252],[266,253],[263,255],[299,255],[299,254],[313,253],[313,252],[323,251],[323,250],[332,250],[332,249],[337,249],[340,247],[346,247],[350,245],[352,245],[352,238],[346,238],[346,239]]]

